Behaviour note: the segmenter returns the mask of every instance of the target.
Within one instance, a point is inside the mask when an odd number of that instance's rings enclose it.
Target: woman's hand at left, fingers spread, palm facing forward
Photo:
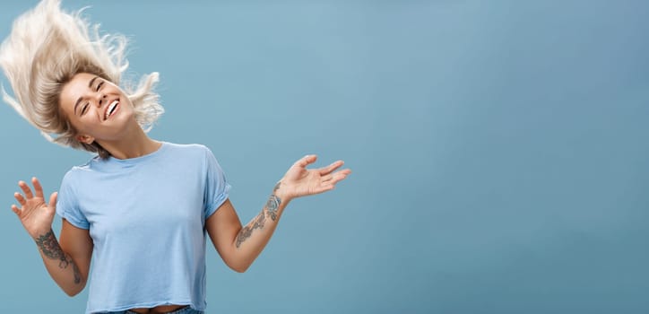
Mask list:
[[[18,182],[24,196],[18,192],[13,194],[21,207],[12,205],[12,211],[21,219],[22,226],[30,233],[31,238],[38,238],[52,229],[52,222],[56,213],[57,193],[52,193],[49,196],[49,203],[46,204],[43,197],[43,188],[40,186],[39,180],[32,178],[31,184],[34,186],[35,195],[31,193],[27,183],[24,181]]]

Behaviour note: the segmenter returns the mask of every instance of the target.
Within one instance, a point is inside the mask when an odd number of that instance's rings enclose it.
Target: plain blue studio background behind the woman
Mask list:
[[[649,312],[648,2],[85,5],[160,72],[151,137],[211,147],[243,222],[306,153],[353,170],[247,273],[208,248],[209,312]],[[0,127],[0,310],[82,312],[10,205],[90,156],[8,106]]]

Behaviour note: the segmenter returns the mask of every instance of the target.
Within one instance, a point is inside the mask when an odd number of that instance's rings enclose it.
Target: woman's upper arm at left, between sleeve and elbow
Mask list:
[[[79,267],[79,271],[85,282],[88,279],[88,272],[91,267],[93,248],[90,231],[77,228],[72,223],[63,219],[58,243],[61,245],[61,249],[72,257],[74,264]]]

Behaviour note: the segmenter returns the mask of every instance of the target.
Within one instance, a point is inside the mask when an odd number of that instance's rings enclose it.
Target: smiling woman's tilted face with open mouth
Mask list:
[[[75,74],[60,96],[61,109],[77,131],[79,142],[116,141],[134,122],[133,104],[125,93],[103,78],[87,73]]]

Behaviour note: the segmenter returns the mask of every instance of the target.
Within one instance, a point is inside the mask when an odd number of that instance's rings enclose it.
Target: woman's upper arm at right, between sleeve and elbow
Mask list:
[[[231,252],[234,249],[234,240],[238,231],[241,230],[241,222],[229,199],[226,199],[219,209],[207,218],[205,230],[210,235],[214,248],[219,252],[223,261],[229,265]]]

